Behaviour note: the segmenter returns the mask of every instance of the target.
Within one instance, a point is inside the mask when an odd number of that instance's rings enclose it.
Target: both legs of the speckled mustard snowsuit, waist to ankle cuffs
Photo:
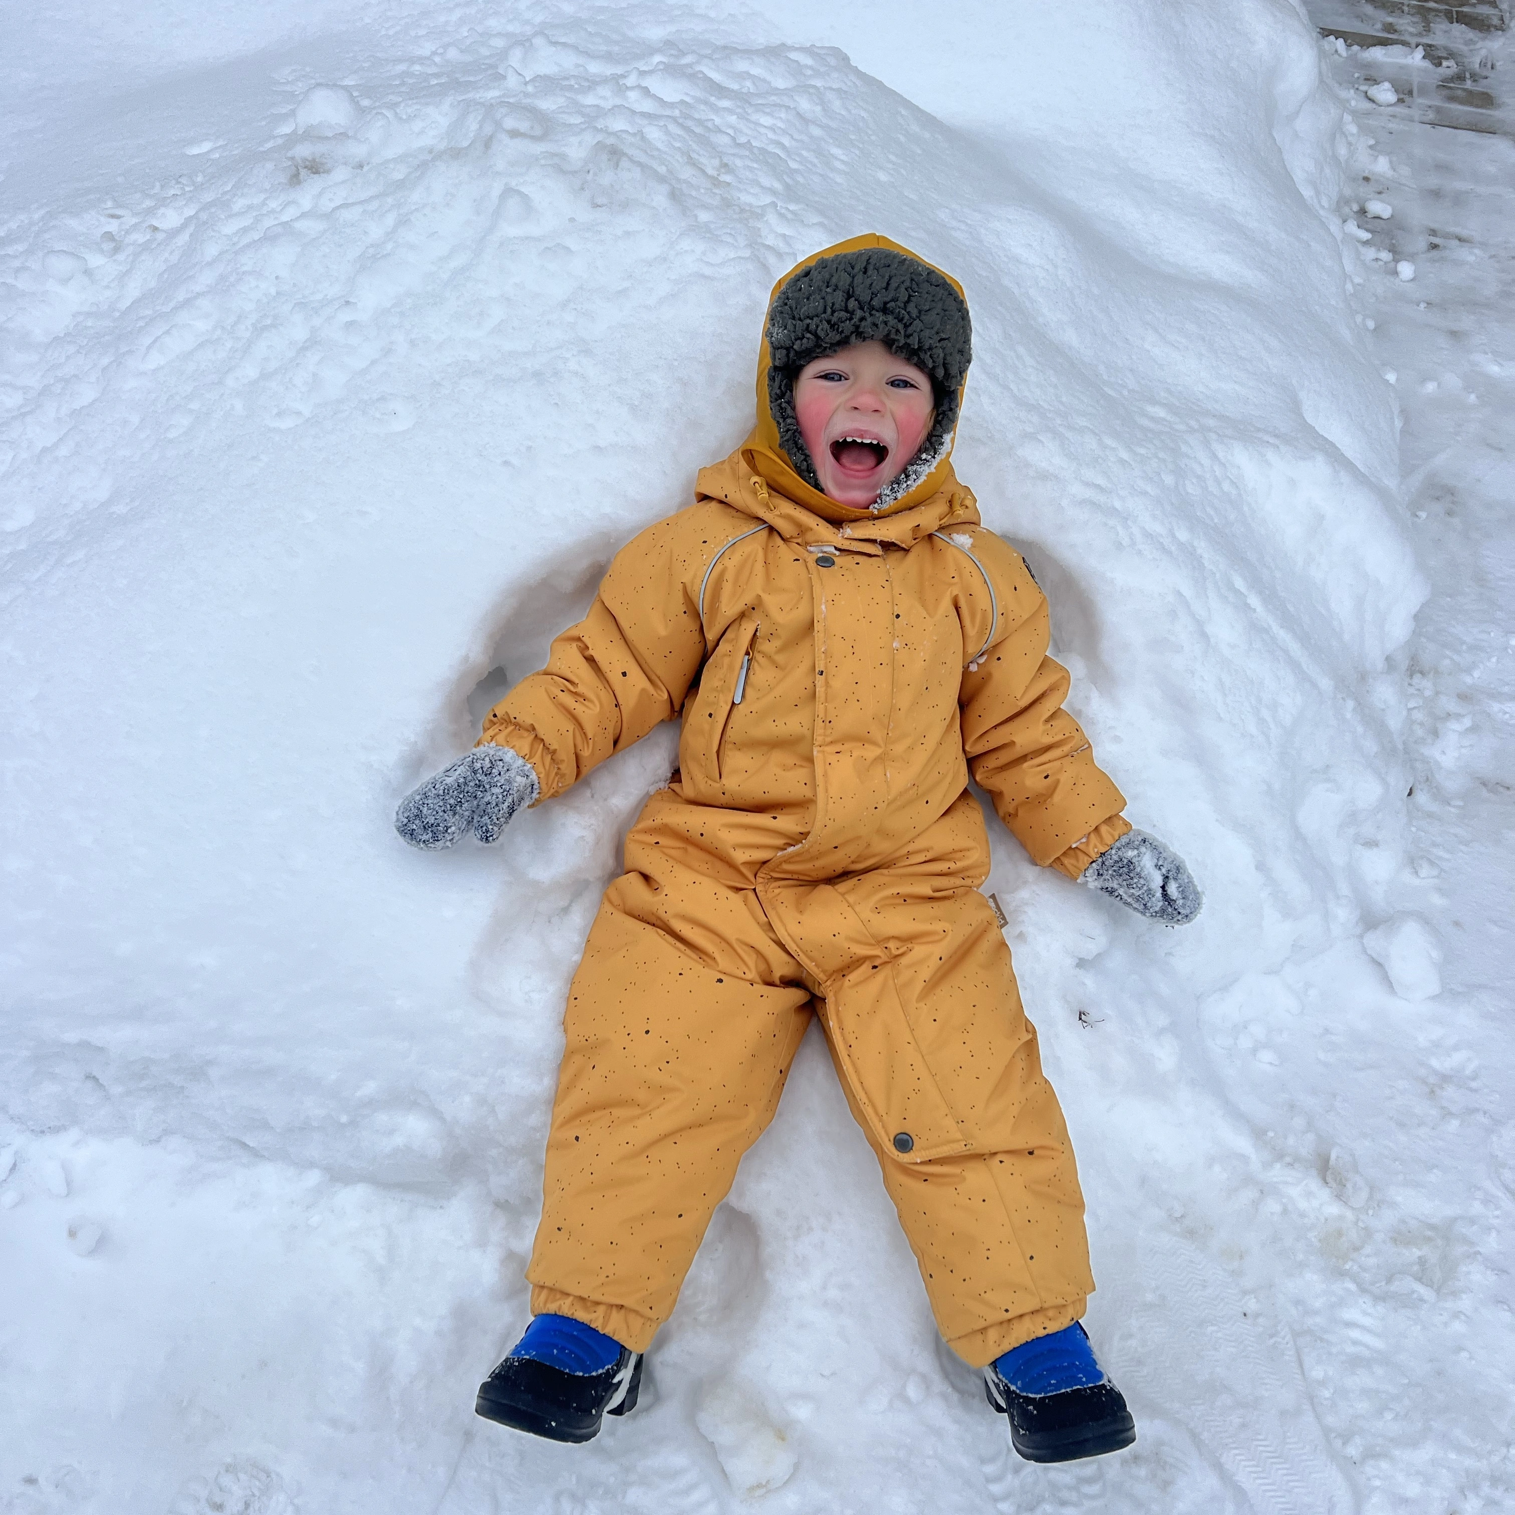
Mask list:
[[[648,804],[627,838],[636,871],[606,892],[574,979],[532,1309],[645,1348],[773,1118],[818,991],[951,1347],[982,1367],[1082,1317],[1083,1197],[977,889],[977,806],[953,806],[886,867],[761,889],[771,838],[706,850],[700,815]]]

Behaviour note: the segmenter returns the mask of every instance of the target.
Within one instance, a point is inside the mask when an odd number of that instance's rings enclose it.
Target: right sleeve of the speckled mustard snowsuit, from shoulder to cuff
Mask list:
[[[968,770],[1032,859],[1077,879],[1130,830],[1126,797],[1062,708],[1068,671],[1047,656],[1047,597],[1024,559],[982,529],[974,554],[995,594],[989,644],[962,676]]]

